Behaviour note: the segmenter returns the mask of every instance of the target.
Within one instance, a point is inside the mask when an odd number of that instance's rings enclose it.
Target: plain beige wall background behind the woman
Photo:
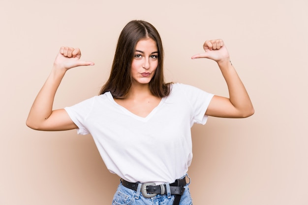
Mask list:
[[[67,73],[55,108],[96,95],[133,19],[160,32],[168,81],[227,96],[216,64],[190,59],[222,38],[255,107],[192,128],[194,205],[307,205],[307,9],[307,0],[0,0],[0,205],[111,204],[119,179],[90,135],[25,121],[61,46],[95,66]]]

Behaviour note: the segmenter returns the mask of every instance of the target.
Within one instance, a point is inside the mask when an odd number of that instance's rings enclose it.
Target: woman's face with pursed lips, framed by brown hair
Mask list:
[[[132,84],[148,84],[158,65],[158,50],[152,38],[138,41],[131,63]]]

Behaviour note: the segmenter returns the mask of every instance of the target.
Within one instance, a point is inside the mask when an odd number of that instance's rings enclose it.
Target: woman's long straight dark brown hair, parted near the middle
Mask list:
[[[158,65],[149,83],[150,91],[160,98],[170,94],[170,83],[165,83],[163,76],[164,52],[159,33],[150,23],[133,20],[124,26],[119,36],[110,76],[101,88],[100,95],[110,91],[114,98],[125,98],[131,87],[131,63],[136,44],[143,38],[152,38],[158,49]]]

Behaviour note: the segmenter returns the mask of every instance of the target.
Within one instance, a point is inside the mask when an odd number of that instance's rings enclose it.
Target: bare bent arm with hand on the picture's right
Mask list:
[[[233,67],[229,52],[221,39],[207,40],[203,45],[204,53],[191,58],[209,58],[215,60],[224,77],[229,98],[214,96],[208,106],[206,115],[227,118],[245,118],[254,113],[254,109],[243,82]]]

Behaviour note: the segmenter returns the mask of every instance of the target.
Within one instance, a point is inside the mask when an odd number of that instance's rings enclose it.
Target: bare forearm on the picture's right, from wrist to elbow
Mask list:
[[[224,59],[217,63],[227,83],[230,102],[243,117],[252,115],[254,113],[252,103],[231,61]]]

